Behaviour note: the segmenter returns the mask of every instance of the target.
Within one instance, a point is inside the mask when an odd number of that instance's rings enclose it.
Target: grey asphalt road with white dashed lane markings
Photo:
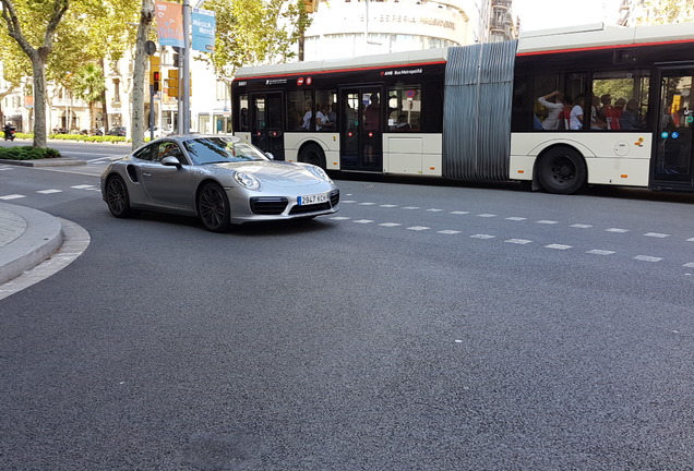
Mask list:
[[[694,469],[691,196],[349,179],[215,234],[8,167],[92,243],[0,301],[0,469]]]

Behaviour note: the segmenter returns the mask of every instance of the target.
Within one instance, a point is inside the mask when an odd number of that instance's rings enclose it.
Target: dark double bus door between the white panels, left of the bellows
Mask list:
[[[340,90],[340,168],[383,171],[383,93],[381,87]]]

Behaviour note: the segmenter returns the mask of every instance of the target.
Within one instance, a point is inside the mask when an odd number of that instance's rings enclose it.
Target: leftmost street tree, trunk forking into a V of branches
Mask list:
[[[0,0],[8,34],[32,62],[34,80],[34,146],[46,147],[46,61],[69,0]]]

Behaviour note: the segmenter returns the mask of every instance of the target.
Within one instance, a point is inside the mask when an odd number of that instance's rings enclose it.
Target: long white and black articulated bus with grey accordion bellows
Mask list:
[[[534,32],[242,68],[234,132],[326,170],[694,191],[693,81],[694,24]]]

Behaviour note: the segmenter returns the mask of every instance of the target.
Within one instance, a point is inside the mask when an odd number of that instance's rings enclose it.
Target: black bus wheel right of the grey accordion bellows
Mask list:
[[[569,147],[549,150],[538,166],[538,180],[545,190],[573,194],[586,183],[586,164],[578,152]]]

